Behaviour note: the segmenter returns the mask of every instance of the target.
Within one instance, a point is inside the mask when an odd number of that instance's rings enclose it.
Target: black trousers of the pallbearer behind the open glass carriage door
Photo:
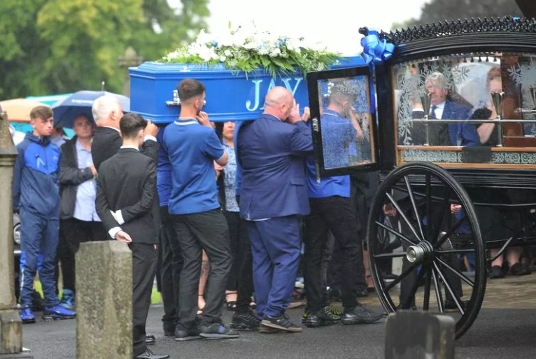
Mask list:
[[[341,290],[345,308],[357,305],[358,267],[362,264],[362,244],[356,229],[355,212],[346,197],[311,198],[311,214],[305,218],[304,279],[309,311],[325,305],[323,295],[323,251],[331,231],[341,248]]]

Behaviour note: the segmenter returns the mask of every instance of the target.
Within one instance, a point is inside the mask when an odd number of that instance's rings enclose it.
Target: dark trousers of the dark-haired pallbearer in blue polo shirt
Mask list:
[[[225,286],[232,267],[227,220],[220,209],[171,215],[171,218],[184,260],[178,292],[178,325],[190,330],[195,322],[202,250],[206,251],[211,263],[202,324],[220,322]]]

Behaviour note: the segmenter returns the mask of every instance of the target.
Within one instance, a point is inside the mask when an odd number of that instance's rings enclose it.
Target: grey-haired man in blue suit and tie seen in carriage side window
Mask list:
[[[426,90],[432,94],[430,118],[467,120],[470,117],[469,107],[448,99],[449,87],[442,73],[430,73],[426,78],[425,86]],[[430,131],[430,142],[442,146],[480,146],[477,130],[469,123],[440,125],[438,131]]]

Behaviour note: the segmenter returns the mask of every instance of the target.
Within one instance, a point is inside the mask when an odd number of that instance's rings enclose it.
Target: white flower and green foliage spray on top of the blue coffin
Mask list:
[[[305,76],[311,71],[329,69],[339,64],[341,55],[327,50],[319,42],[307,41],[305,38],[280,36],[271,31],[257,31],[238,27],[236,30],[210,34],[199,31],[196,40],[184,45],[162,57],[167,64],[224,64],[227,69],[258,73],[259,69],[272,77],[288,76],[297,72]]]

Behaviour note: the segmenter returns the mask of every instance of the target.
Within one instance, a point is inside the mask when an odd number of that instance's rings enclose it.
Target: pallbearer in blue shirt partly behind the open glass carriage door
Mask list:
[[[352,106],[358,99],[358,89],[349,80],[336,83],[330,104],[323,111],[321,123],[326,167],[347,167],[350,143],[362,137]],[[304,274],[307,309],[302,322],[310,328],[330,325],[374,323],[383,313],[374,313],[356,300],[362,268],[362,243],[358,223],[350,199],[350,176],[322,178],[316,183],[313,155],[307,157],[307,185],[311,214],[305,218]],[[322,258],[328,231],[334,234],[342,253],[341,289],[344,311],[328,307],[323,295]],[[361,268],[360,268],[361,267]],[[362,278],[365,281],[365,278]]]

